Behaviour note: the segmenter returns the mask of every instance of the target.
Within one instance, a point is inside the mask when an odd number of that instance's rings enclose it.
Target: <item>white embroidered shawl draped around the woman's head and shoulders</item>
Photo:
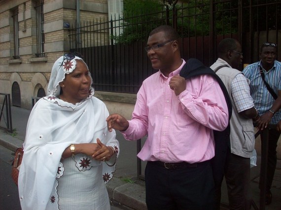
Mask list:
[[[80,59],[75,57],[75,59]],[[93,96],[75,105],[58,99],[60,86],[66,72],[61,63],[53,66],[48,86],[49,96],[41,98],[34,106],[27,125],[24,157],[19,174],[19,197],[23,210],[44,210],[50,199],[63,151],[70,144],[96,143],[99,138],[119,154],[115,131],[108,132],[105,104]],[[63,73],[62,73],[63,72]],[[92,78],[91,78],[92,82]],[[115,158],[112,160],[115,163]],[[110,160],[111,161],[111,160]],[[103,164],[105,182],[112,178],[115,164]]]

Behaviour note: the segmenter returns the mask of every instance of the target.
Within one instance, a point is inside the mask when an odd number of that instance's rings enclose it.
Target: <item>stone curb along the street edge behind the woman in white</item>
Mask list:
[[[0,130],[0,145],[16,151],[22,147],[23,140],[17,139],[5,131]],[[107,184],[106,189],[111,203],[117,203],[127,210],[147,210],[145,204],[145,187],[136,183],[127,183],[113,177]]]

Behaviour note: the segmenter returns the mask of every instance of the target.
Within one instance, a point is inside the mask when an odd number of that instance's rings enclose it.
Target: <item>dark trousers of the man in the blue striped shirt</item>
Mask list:
[[[275,168],[277,164],[277,142],[280,137],[281,132],[275,129],[268,130],[268,167],[267,167],[267,180],[266,180],[266,190],[269,191],[272,185]],[[261,141],[264,141],[261,136]]]

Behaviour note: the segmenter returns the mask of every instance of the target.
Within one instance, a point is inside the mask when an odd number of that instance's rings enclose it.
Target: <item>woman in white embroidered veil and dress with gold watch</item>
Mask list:
[[[105,104],[77,54],[55,61],[48,96],[28,121],[18,186],[22,210],[109,210],[105,183],[119,154]]]

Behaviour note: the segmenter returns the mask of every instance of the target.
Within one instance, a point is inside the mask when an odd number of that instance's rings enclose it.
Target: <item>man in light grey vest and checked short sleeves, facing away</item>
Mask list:
[[[225,38],[218,44],[218,59],[211,69],[224,83],[232,103],[230,142],[226,152],[224,177],[227,184],[229,208],[249,210],[250,157],[255,138],[253,120],[258,119],[250,96],[248,80],[241,69],[243,53],[241,44],[233,38]],[[216,183],[216,210],[220,209],[221,180]]]

